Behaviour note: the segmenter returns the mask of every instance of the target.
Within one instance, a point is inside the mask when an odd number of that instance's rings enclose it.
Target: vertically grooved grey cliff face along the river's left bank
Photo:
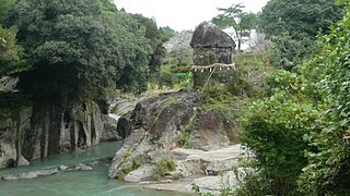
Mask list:
[[[100,144],[103,114],[95,102],[61,107],[34,106],[19,115],[0,115],[0,169]]]

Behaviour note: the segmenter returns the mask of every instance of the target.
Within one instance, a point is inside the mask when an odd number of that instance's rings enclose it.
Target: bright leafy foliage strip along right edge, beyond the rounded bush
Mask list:
[[[307,194],[348,195],[350,192],[350,5],[343,20],[322,37],[322,51],[312,61],[320,70],[323,112],[316,124],[319,133],[310,136],[315,150],[307,152],[308,166],[301,176],[301,189]]]

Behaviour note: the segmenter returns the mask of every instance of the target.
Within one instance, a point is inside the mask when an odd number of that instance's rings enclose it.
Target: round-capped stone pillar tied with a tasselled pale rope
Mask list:
[[[203,22],[196,28],[190,46],[194,49],[195,88],[207,86],[208,81],[230,81],[228,77],[235,70],[233,52],[236,45],[226,33],[211,22]]]

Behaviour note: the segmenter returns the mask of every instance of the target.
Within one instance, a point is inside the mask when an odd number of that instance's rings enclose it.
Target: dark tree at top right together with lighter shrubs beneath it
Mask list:
[[[336,0],[270,0],[260,14],[259,27],[275,42],[271,63],[292,71],[315,51],[319,32],[340,20],[342,7]]]

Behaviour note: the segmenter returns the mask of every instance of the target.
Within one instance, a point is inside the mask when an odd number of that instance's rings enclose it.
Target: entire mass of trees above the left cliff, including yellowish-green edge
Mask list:
[[[0,19],[0,74],[20,76],[18,87],[36,98],[143,91],[165,54],[153,20],[109,0],[5,0]]]

